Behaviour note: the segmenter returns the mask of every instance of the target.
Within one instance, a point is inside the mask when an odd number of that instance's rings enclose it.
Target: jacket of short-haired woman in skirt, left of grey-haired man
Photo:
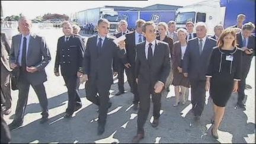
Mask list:
[[[173,56],[172,56],[172,69],[174,69],[174,71],[178,71],[177,70],[178,66],[182,68],[180,41],[176,41],[174,43]]]

